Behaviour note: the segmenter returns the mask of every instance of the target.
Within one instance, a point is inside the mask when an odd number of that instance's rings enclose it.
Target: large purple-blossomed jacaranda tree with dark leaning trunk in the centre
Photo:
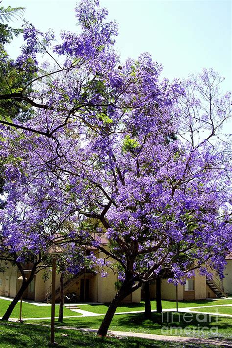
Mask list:
[[[106,335],[120,301],[142,283],[185,283],[195,269],[209,274],[208,265],[222,276],[231,248],[230,157],[220,132],[230,93],[220,96],[213,70],[170,83],[148,53],[120,63],[116,24],[98,1],[82,2],[76,14],[81,33],[63,32],[56,45],[52,32],[26,24],[16,62],[37,77],[0,98],[27,102],[34,114],[23,124],[0,121],[10,138],[1,151],[6,182],[14,143],[24,185],[45,187],[33,204],[66,211],[68,237],[91,240],[106,255],[98,262],[117,269],[119,290],[98,331]],[[41,52],[50,57],[42,66]]]

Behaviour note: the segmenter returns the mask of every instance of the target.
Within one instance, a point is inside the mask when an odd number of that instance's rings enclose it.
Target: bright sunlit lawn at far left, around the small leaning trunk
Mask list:
[[[10,305],[9,300],[0,299],[0,317],[2,317]],[[11,318],[19,318],[20,303],[18,302],[11,314]],[[55,315],[59,315],[59,306],[55,308]],[[67,308],[64,308],[64,316],[81,315],[77,312],[73,312]],[[51,305],[49,306],[35,306],[34,304],[22,303],[22,318],[44,318],[51,316]]]

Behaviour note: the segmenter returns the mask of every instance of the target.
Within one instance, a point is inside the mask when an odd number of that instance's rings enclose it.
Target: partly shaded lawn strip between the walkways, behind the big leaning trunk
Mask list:
[[[190,321],[186,321],[190,316]],[[167,317],[169,316],[169,317]],[[97,317],[78,317],[67,318],[63,325],[77,328],[95,328],[98,329],[103,319],[102,316]],[[40,324],[49,324],[47,320],[40,320]],[[60,326],[59,323],[57,325]],[[171,329],[172,327],[172,329]],[[191,328],[191,332],[185,332],[186,327]],[[208,327],[202,333],[202,327]],[[177,328],[175,330],[175,328]],[[195,328],[195,332],[193,329]],[[217,332],[218,328],[218,332]],[[212,329],[210,331],[210,329]],[[225,317],[209,316],[206,314],[196,313],[173,313],[166,312],[163,315],[152,313],[152,320],[145,320],[143,313],[133,313],[124,315],[115,315],[110,325],[110,330],[131,331],[151,334],[165,334],[177,336],[195,336],[195,337],[214,337],[220,336],[232,338],[232,319]]]

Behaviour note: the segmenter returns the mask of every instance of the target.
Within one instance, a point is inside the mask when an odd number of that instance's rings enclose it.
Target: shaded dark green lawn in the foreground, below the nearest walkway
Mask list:
[[[62,336],[65,335],[65,336]],[[0,323],[0,347],[1,348],[46,348],[49,347],[50,331],[48,327],[38,325]],[[95,333],[80,332],[75,330],[57,329],[55,341],[59,348],[166,348],[189,347],[189,344],[146,340],[137,337],[98,337]],[[191,347],[208,347],[209,345],[191,345]]]

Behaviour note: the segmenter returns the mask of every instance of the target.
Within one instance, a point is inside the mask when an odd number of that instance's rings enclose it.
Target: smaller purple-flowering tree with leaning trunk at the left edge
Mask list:
[[[15,145],[17,149],[17,142]],[[73,242],[71,232],[74,225],[69,221],[71,207],[67,208],[68,202],[64,201],[64,196],[60,197],[61,200],[58,199],[59,195],[56,196],[56,188],[52,185],[49,176],[45,174],[43,181],[39,180],[37,186],[33,186],[31,177],[25,180],[29,176],[26,173],[25,162],[19,158],[14,162],[10,155],[4,156],[2,162],[4,163],[2,172],[4,179],[2,198],[4,199],[2,200],[3,209],[0,210],[0,260],[9,261],[17,266],[23,278],[18,293],[3,316],[3,320],[8,320],[34,276],[50,265],[49,257],[44,254],[46,247],[52,243],[64,244],[66,254],[71,253],[73,260],[79,263],[79,266],[69,265],[68,267],[68,270],[76,273],[78,267],[79,269],[84,267],[80,260],[85,251],[84,243],[88,240],[83,239],[84,235],[75,233],[75,243]],[[49,187],[49,184],[53,186],[53,189],[48,194],[45,187]],[[31,267],[28,279],[24,271],[27,264]]]

